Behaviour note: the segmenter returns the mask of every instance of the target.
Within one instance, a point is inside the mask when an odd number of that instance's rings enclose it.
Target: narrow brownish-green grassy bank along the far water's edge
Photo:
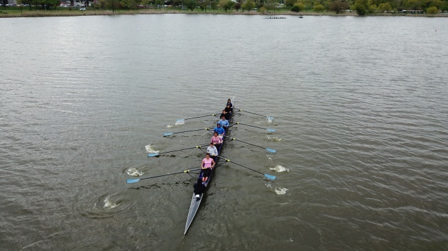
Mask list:
[[[336,14],[335,12],[291,12],[281,10],[276,12],[261,13],[255,10],[250,12],[212,12],[212,11],[181,11],[181,10],[8,10],[0,8],[0,18],[11,17],[79,17],[79,16],[118,16],[118,15],[134,15],[134,14],[227,14],[227,15],[260,15],[260,16],[329,16],[329,17],[357,17],[356,12],[344,12]],[[377,13],[369,14],[365,17],[448,17],[448,14],[397,14],[397,13]]]

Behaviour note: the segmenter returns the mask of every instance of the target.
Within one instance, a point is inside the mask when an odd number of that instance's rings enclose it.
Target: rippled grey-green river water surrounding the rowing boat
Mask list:
[[[1,250],[448,250],[448,19],[0,20]],[[187,235],[210,116],[243,124]],[[276,149],[269,153],[263,148]],[[196,175],[193,175],[196,177]]]

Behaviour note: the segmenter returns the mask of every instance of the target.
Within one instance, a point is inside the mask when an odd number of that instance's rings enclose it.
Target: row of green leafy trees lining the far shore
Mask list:
[[[59,6],[59,0],[19,0],[21,3],[51,9]],[[359,15],[378,12],[402,12],[420,10],[427,14],[448,11],[448,0],[99,0],[93,6],[101,10],[133,10],[136,8],[166,8],[207,11],[258,11],[276,12],[336,12],[356,11]]]

